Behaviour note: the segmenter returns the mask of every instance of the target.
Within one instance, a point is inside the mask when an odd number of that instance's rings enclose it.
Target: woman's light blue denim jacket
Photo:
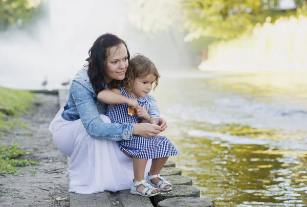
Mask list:
[[[74,77],[68,100],[64,105],[62,118],[68,121],[81,119],[85,130],[93,137],[113,141],[133,140],[134,124],[104,123],[99,114],[106,113],[107,104],[100,102],[87,75],[87,66],[83,67]],[[106,88],[108,89],[108,88]],[[155,98],[148,94],[149,116],[159,117],[160,111]]]

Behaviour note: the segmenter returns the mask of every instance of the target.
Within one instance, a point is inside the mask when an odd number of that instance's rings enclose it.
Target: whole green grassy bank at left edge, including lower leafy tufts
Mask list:
[[[3,143],[9,141],[9,145],[0,145],[0,173],[19,174],[21,171],[16,167],[38,164],[36,160],[29,159],[32,152],[20,149],[14,142],[16,133],[13,132],[26,127],[19,118],[31,109],[34,101],[35,95],[29,91],[0,87],[0,139]]]

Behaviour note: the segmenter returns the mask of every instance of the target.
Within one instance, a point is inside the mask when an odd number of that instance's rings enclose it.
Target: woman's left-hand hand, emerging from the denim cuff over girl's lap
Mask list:
[[[151,138],[153,136],[157,136],[161,131],[161,127],[155,124],[149,123],[140,123],[134,124],[132,134],[140,135],[147,138]]]

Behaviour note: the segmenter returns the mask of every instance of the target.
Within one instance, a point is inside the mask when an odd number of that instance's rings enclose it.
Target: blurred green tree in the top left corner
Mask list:
[[[41,17],[41,0],[0,0],[0,31],[10,25],[25,27]]]

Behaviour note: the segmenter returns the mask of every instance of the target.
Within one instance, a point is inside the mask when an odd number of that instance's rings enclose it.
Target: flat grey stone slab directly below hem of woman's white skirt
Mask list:
[[[113,207],[109,197],[110,193],[107,191],[94,194],[69,193],[70,207]]]

